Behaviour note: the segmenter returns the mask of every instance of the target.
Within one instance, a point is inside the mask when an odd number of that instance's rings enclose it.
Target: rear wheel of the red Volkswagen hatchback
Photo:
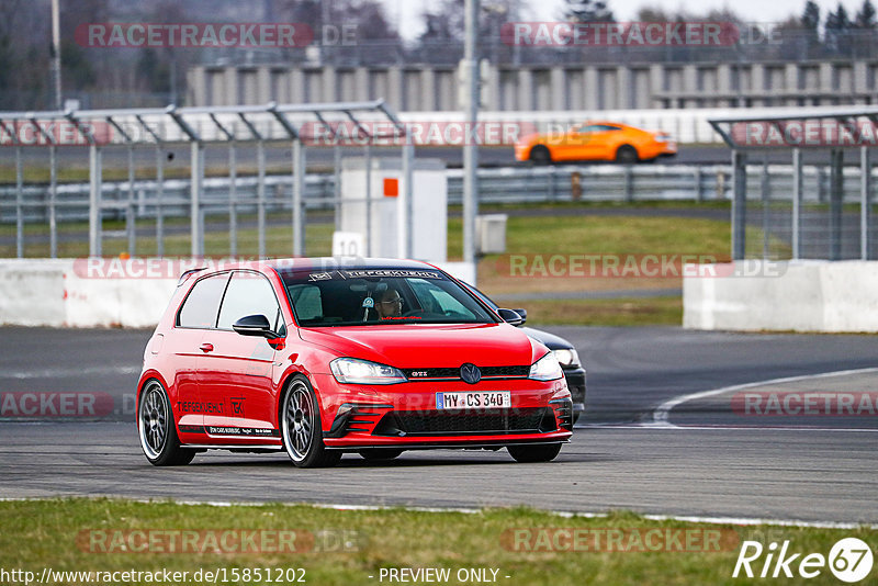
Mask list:
[[[155,379],[144,385],[137,403],[137,435],[154,466],[181,466],[195,458],[195,450],[180,447],[168,392]]]

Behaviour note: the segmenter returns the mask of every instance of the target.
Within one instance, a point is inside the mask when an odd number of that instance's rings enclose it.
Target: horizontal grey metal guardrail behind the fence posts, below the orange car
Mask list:
[[[784,165],[750,165],[746,173],[747,200],[757,201],[768,217],[766,234],[785,234],[788,218],[779,213],[791,205],[793,169]],[[448,202],[462,202],[462,170],[449,169]],[[874,173],[873,173],[874,174]],[[823,166],[802,167],[803,202],[810,205],[828,203],[830,198],[830,170]],[[264,211],[290,213],[292,209],[292,178],[289,174],[272,174],[264,179]],[[305,181],[304,206],[306,210],[333,210],[337,206],[336,178],[331,173],[308,174]],[[732,194],[731,166],[663,166],[663,165],[588,165],[558,167],[507,167],[480,169],[480,201],[489,203],[541,203],[541,202],[637,202],[637,201],[729,201]],[[185,217],[191,213],[190,181],[171,179],[164,181],[159,190],[155,180],[134,182],[134,198],[127,181],[102,184],[102,218],[127,221],[127,228],[112,234],[135,241],[135,221],[156,217]],[[202,213],[206,216],[223,216],[229,213],[229,188],[227,177],[210,178],[203,182],[201,195]],[[843,202],[859,200],[860,170],[845,168],[843,172]],[[256,213],[259,206],[257,177],[237,177],[235,202],[237,213]],[[21,202],[21,203],[19,203]],[[766,203],[767,202],[767,203]],[[23,198],[16,199],[15,185],[0,188],[0,223],[15,224],[18,209],[26,223],[81,222],[89,218],[89,183],[59,184],[56,198],[50,198],[47,184],[26,184]],[[54,210],[52,209],[54,206]],[[775,210],[769,209],[774,206]],[[758,206],[751,212],[757,213]],[[767,215],[766,215],[767,214]],[[820,239],[820,222],[815,221],[811,236]],[[759,225],[755,215],[747,222]],[[157,237],[162,237],[161,223],[157,223]],[[768,236],[766,236],[768,238]],[[767,247],[768,245],[766,245]],[[135,247],[132,246],[132,249]],[[767,248],[766,248],[767,249]]]

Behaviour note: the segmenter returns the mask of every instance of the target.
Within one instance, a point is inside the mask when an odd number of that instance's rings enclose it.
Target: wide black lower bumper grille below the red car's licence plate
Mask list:
[[[551,421],[551,424],[549,424]],[[549,429],[543,427],[549,426]],[[458,436],[468,433],[533,433],[554,430],[548,407],[485,410],[424,410],[386,414],[376,436]]]

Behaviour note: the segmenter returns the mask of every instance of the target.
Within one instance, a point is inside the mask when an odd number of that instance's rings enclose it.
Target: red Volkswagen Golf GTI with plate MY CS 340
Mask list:
[[[137,427],[155,465],[285,450],[296,466],[506,448],[545,462],[572,433],[554,356],[443,271],[333,259],[190,271],[144,353]]]

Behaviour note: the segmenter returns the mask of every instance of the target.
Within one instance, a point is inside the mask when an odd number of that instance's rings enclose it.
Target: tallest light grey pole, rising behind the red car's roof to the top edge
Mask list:
[[[463,67],[466,91],[464,123],[476,124],[479,119],[479,63],[476,35],[479,34],[479,0],[464,0]],[[479,215],[479,150],[477,145],[463,146],[463,261],[475,264],[475,218]],[[473,283],[475,284],[475,283]]]

